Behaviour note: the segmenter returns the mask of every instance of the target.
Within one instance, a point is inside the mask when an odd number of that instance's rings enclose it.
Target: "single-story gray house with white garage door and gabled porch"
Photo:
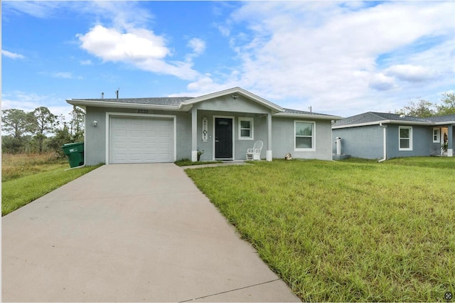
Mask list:
[[[235,87],[200,97],[71,99],[85,115],[85,164],[245,160],[331,160],[331,122],[341,117],[288,110]]]

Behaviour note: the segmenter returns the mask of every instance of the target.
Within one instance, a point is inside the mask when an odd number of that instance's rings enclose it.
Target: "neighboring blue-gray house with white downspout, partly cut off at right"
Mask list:
[[[341,137],[341,153],[365,159],[403,156],[453,156],[455,115],[419,118],[365,112],[336,121],[333,138]],[[336,150],[333,140],[332,149]],[[442,144],[447,149],[442,149]]]

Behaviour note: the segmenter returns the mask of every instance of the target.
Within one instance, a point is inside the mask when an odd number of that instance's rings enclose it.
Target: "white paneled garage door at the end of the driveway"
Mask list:
[[[109,162],[173,162],[173,119],[110,117]]]

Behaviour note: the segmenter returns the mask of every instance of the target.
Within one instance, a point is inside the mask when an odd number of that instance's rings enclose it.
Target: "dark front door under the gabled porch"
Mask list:
[[[231,118],[215,118],[215,158],[232,159]]]

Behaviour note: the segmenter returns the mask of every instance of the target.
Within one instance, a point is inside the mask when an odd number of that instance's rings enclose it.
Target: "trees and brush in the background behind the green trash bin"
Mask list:
[[[2,153],[42,153],[57,151],[65,143],[84,141],[85,112],[73,109],[70,121],[54,115],[48,107],[37,107],[31,112],[10,109],[1,112]]]

